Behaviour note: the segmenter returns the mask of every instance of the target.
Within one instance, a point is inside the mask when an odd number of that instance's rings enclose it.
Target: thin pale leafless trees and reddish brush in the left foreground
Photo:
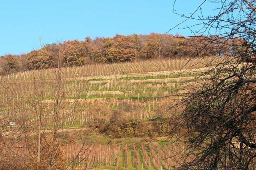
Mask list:
[[[52,71],[54,79],[48,79],[44,71],[33,72],[32,80],[1,79],[0,169],[74,169],[78,165],[90,169],[94,166],[91,160],[86,161],[92,147],[86,140],[78,140],[83,128],[77,129],[79,133],[74,139],[74,143],[79,141],[80,150],[69,150],[64,145],[69,128],[81,111],[77,109],[80,100],[65,101],[67,82],[60,59],[58,68]],[[31,85],[20,86],[20,83]],[[69,151],[74,158],[67,161],[65,156]]]

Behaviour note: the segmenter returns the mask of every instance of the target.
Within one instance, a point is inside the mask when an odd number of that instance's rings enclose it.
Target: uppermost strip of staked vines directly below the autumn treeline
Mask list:
[[[181,58],[181,59],[160,59],[160,60],[145,60],[126,63],[109,63],[109,64],[92,64],[85,66],[74,66],[64,68],[63,74],[65,78],[86,77],[84,79],[93,79],[100,76],[120,75],[120,74],[138,74],[147,72],[164,72],[171,70],[190,70],[193,68],[208,67],[210,62],[218,62],[213,57],[202,58]],[[47,70],[32,70],[8,74],[2,76],[2,80],[32,80],[34,78],[54,79],[56,69]]]

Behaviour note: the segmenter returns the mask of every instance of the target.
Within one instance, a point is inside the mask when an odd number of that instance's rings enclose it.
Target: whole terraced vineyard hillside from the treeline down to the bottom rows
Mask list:
[[[60,134],[79,132],[79,139],[63,141],[61,146],[66,165],[76,165],[75,169],[172,168],[184,146],[163,145],[168,143],[161,142],[168,123],[156,123],[156,127],[154,120],[179,100],[174,94],[186,94],[198,82],[202,72],[211,67],[208,63],[218,62],[212,60],[93,64],[2,76],[3,134],[20,136],[23,132],[19,129],[28,125],[29,136],[36,135],[38,122],[43,122],[40,128],[44,133],[51,133],[56,126]],[[171,117],[173,112],[162,117]],[[115,126],[118,130],[113,130]],[[156,129],[160,129],[160,135]],[[93,135],[108,140],[92,140]],[[12,150],[16,155],[26,153],[20,148]]]

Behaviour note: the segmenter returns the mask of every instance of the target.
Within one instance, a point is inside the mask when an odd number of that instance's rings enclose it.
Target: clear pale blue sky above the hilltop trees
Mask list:
[[[166,33],[182,20],[174,0],[1,0],[0,55],[28,53],[42,43],[113,37],[116,34]],[[188,14],[202,0],[177,0]],[[205,6],[210,11],[210,6]],[[186,23],[188,24],[188,23]],[[190,35],[188,30],[170,33]]]

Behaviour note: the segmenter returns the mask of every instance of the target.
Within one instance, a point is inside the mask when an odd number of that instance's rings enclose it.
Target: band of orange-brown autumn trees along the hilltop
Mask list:
[[[184,38],[181,35],[151,33],[150,35],[116,35],[113,38],[98,37],[84,41],[64,41],[44,45],[39,50],[22,55],[0,57],[0,74],[24,70],[81,66],[89,63],[113,63],[137,59],[171,58],[216,55],[227,51],[224,45],[212,43],[214,37]],[[198,50],[203,49],[203,50]]]

